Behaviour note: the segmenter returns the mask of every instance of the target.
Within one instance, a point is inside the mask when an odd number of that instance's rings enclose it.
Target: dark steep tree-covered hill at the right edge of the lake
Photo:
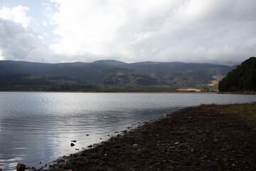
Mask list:
[[[256,58],[251,57],[230,71],[218,85],[219,91],[256,91]]]

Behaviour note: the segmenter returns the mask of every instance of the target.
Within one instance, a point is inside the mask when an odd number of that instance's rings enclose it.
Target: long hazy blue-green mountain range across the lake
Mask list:
[[[216,84],[235,66],[210,63],[31,63],[0,61],[0,86],[196,87]]]

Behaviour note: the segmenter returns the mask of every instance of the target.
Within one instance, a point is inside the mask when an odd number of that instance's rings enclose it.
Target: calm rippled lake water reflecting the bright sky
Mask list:
[[[0,168],[15,170],[17,162],[41,167],[179,108],[255,101],[256,95],[1,92]],[[77,140],[73,147],[71,140]]]

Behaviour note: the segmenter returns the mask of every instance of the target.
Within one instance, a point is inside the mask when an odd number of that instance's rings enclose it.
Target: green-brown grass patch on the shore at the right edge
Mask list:
[[[227,105],[220,113],[235,113],[256,122],[256,103]]]

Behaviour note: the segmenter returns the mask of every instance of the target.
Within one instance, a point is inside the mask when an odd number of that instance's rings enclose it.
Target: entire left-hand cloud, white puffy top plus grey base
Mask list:
[[[26,11],[26,6],[3,7],[0,10],[0,60],[63,61],[62,56],[50,51],[43,36],[28,26],[32,18],[26,15]]]

